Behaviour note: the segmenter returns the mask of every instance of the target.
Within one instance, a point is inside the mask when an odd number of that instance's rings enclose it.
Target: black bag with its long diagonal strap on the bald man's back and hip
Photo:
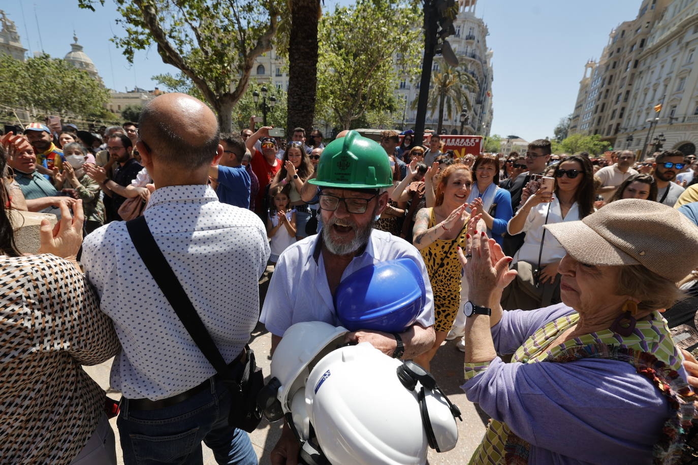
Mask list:
[[[184,328],[230,391],[232,402],[228,414],[228,425],[244,429],[246,432],[253,432],[262,420],[262,411],[256,401],[258,393],[264,387],[264,375],[262,369],[255,364],[254,352],[245,346],[239,362],[232,363],[232,366],[227,365],[155,242],[145,217],[140,216],[126,222],[126,229],[135,245],[135,250],[165,298],[172,305],[177,317],[184,324]]]

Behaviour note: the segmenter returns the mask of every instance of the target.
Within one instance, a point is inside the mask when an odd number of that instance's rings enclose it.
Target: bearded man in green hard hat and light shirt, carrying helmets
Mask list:
[[[347,342],[369,342],[397,358],[415,358],[433,344],[433,297],[429,275],[417,249],[403,239],[373,229],[385,210],[386,188],[392,172],[381,146],[349,131],[346,137],[327,144],[317,176],[309,182],[319,186],[324,227],[320,234],[290,245],[276,263],[260,321],[272,333],[272,351],[285,330],[302,321],[325,321],[339,326],[334,310],[335,291],[356,270],[398,258],[415,262],[426,287],[426,303],[413,326],[402,333],[374,330],[348,333]],[[297,463],[298,441],[283,426],[271,453],[272,464]],[[286,462],[288,459],[288,462]]]

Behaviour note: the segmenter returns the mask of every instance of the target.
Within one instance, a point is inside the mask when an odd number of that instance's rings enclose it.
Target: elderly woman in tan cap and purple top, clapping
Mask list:
[[[459,250],[470,284],[462,387],[492,418],[470,463],[674,462],[695,408],[658,310],[698,264],[698,228],[625,199],[547,229],[567,251],[563,303],[551,307],[503,311],[511,258],[479,231],[467,259]]]

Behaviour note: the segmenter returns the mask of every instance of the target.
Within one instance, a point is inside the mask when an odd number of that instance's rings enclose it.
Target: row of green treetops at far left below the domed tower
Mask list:
[[[0,105],[103,117],[109,91],[86,72],[48,55],[27,61],[0,54]]]

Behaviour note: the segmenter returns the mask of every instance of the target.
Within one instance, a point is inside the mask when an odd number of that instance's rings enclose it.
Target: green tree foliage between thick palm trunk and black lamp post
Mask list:
[[[417,75],[417,2],[358,0],[320,20],[315,120],[347,129],[366,112],[394,105],[401,75]]]

